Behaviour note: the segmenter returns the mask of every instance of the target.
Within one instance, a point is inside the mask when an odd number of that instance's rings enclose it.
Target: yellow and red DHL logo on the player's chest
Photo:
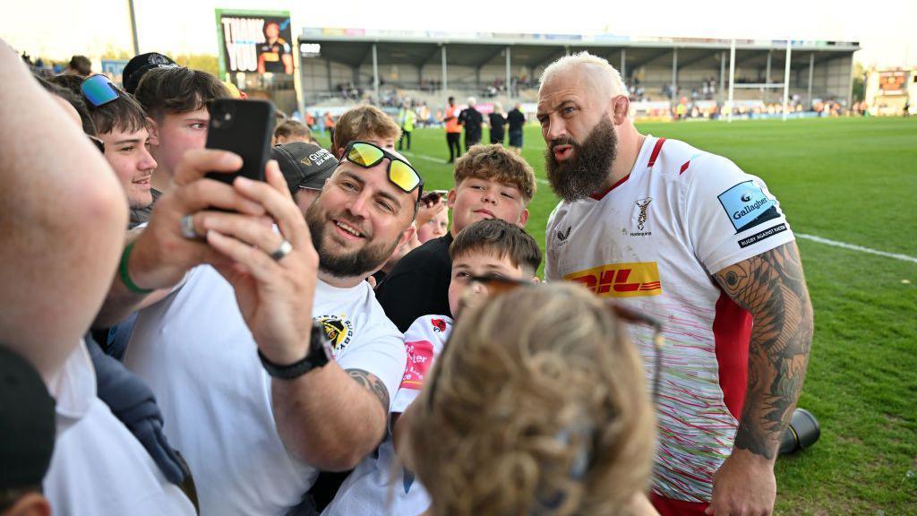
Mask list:
[[[662,294],[656,262],[605,264],[564,279],[578,281],[602,297],[644,297]]]

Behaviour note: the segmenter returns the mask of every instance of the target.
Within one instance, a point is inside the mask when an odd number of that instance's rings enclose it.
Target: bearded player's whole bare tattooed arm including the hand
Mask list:
[[[714,277],[755,322],[745,405],[733,454],[714,477],[711,511],[718,516],[769,514],[777,490],[773,464],[780,435],[796,407],[809,362],[812,303],[794,241]]]

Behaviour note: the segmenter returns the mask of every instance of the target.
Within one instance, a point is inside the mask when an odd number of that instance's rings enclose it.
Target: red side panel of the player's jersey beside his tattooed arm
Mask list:
[[[751,340],[751,313],[735,304],[721,289],[713,317],[716,363],[720,368],[723,401],[733,417],[742,419],[748,389],[748,344]]]

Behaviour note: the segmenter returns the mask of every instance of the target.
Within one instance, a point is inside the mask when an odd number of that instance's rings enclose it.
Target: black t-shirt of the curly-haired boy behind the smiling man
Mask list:
[[[414,320],[425,315],[452,315],[449,311],[451,244],[452,233],[426,241],[405,254],[376,287],[376,299],[398,330],[407,331]]]

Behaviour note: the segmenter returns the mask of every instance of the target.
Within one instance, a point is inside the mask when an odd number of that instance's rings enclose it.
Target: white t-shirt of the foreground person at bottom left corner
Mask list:
[[[193,515],[182,490],[95,395],[85,344],[73,350],[49,387],[57,439],[44,494],[54,514]]]

